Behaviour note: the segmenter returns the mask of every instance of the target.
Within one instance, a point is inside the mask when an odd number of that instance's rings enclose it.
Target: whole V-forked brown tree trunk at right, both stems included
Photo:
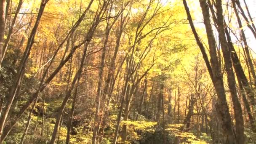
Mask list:
[[[224,90],[223,78],[221,75],[219,60],[216,53],[216,45],[215,45],[213,31],[211,28],[210,14],[208,11],[207,4],[204,0],[200,0],[200,6],[203,11],[204,24],[207,32],[207,37],[208,37],[208,44],[209,44],[210,56],[211,56],[211,65],[209,63],[207,54],[205,53],[205,48],[201,43],[200,38],[198,37],[197,32],[195,30],[186,0],[183,0],[183,3],[188,16],[190,27],[192,28],[192,32],[195,36],[197,44],[203,54],[203,58],[205,60],[206,66],[208,68],[208,72],[211,76],[213,85],[215,87],[215,90],[219,99],[219,104],[216,104],[216,109],[219,114],[219,117],[221,118],[221,122],[222,122],[221,126],[224,133],[225,141],[229,144],[235,144],[236,143],[235,135],[232,131],[232,123],[231,123],[231,118],[229,114],[229,109],[227,106],[227,99],[226,99],[225,90]]]

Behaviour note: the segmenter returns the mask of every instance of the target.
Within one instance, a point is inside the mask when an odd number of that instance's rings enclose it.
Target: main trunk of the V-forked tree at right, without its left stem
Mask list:
[[[208,45],[211,56],[211,66],[213,71],[213,84],[219,99],[219,104],[216,104],[216,110],[221,117],[222,129],[224,133],[225,141],[229,144],[236,144],[235,135],[232,130],[232,122],[229,114],[229,109],[227,106],[227,99],[224,90],[223,77],[221,75],[220,65],[218,63],[218,57],[216,53],[215,38],[213,35],[213,30],[211,27],[210,14],[208,6],[205,0],[200,0],[200,6],[203,12],[203,19],[206,29],[206,34],[208,38]]]

